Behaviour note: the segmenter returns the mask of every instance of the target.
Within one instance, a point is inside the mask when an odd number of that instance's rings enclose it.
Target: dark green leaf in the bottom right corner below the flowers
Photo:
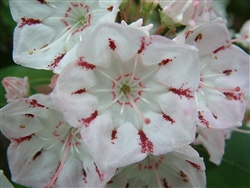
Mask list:
[[[244,126],[245,129],[247,129]],[[248,129],[250,131],[250,129]],[[250,187],[250,135],[233,132],[226,141],[220,166],[211,163],[202,146],[193,146],[204,157],[208,188]]]

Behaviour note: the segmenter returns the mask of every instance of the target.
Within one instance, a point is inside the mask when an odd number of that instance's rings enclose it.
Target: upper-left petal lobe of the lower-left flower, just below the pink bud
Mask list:
[[[1,131],[9,139],[20,139],[42,129],[42,118],[47,117],[48,107],[41,95],[34,95],[31,98],[15,100],[0,112]]]

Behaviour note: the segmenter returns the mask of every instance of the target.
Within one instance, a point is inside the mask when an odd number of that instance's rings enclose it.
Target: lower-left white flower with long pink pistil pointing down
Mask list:
[[[1,131],[11,141],[12,180],[29,187],[101,187],[114,172],[103,173],[46,95],[33,95],[0,110]]]

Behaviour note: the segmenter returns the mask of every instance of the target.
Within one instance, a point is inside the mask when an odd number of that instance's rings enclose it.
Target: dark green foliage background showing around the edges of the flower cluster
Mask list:
[[[229,27],[236,33],[239,32],[243,23],[250,19],[249,0],[229,0],[226,7],[229,18]],[[14,66],[12,61],[12,34],[16,23],[12,20],[8,1],[0,1],[0,80],[5,76],[29,76],[31,92],[35,92],[37,85],[48,84],[52,73],[38,71],[20,66]],[[248,51],[249,49],[245,49]],[[4,88],[0,86],[0,107],[6,104]],[[248,129],[246,126],[243,129]],[[9,141],[0,134],[0,169],[10,179],[6,159],[6,149]],[[250,187],[250,135],[234,132],[226,143],[225,155],[220,166],[209,162],[208,154],[202,146],[194,148],[204,157],[206,163],[207,187],[211,188],[249,188]],[[16,185],[15,187],[22,187]]]

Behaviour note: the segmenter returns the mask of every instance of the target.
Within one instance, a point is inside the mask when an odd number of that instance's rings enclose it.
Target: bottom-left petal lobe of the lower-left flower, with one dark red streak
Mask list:
[[[10,145],[8,160],[14,182],[33,187],[48,183],[60,161],[54,152],[43,150],[43,145],[36,136],[19,145]]]

